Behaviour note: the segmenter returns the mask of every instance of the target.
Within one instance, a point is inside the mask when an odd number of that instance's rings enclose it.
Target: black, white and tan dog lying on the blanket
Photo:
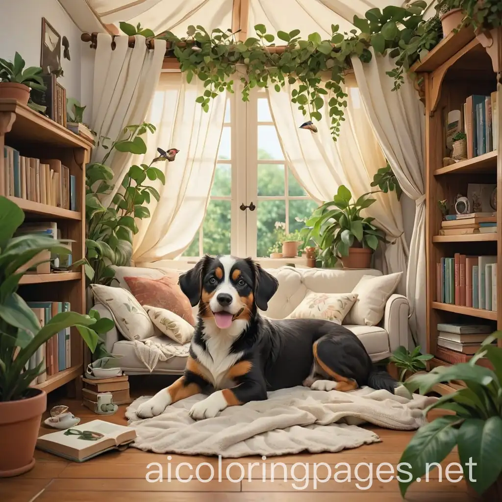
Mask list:
[[[185,371],[139,406],[140,418],[160,415],[168,405],[199,393],[209,396],[191,408],[194,420],[298,385],[342,392],[367,385],[391,393],[398,386],[344,326],[262,317],[259,310],[267,310],[279,283],[250,258],[205,256],[180,276],[179,285],[192,306],[199,306]]]

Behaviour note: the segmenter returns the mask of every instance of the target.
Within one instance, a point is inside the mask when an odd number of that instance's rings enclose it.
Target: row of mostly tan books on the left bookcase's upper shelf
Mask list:
[[[0,195],[76,210],[75,176],[57,159],[23,157],[4,147],[4,173],[0,173]]]

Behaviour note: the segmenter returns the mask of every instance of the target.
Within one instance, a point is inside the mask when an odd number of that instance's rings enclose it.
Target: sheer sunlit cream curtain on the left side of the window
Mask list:
[[[188,84],[180,73],[162,73],[146,120],[157,127],[148,137],[147,154],[136,163],[150,164],[157,148],[177,148],[173,162],[156,163],[166,177],[163,186],[151,182],[160,200],[149,204],[151,218],[138,220],[133,261],[141,263],[174,259],[190,244],[204,219],[214,176],[225,95],[211,99],[204,112],[195,99],[204,92],[203,82]]]

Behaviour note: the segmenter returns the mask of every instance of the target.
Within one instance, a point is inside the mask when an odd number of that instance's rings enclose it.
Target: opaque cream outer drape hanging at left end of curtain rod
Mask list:
[[[98,138],[114,141],[124,127],[144,121],[162,69],[166,41],[156,41],[151,50],[142,35],[136,35],[133,48],[128,45],[129,37],[115,37],[114,50],[111,42],[110,35],[98,34],[91,127]],[[93,150],[92,161],[101,161],[106,152],[101,144]],[[115,190],[129,169],[130,160],[131,154],[116,151],[108,157],[106,164],[114,173],[111,183]],[[113,195],[104,198],[103,203],[108,204]]]

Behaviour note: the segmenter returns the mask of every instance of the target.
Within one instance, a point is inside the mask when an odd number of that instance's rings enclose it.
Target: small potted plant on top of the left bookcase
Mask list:
[[[25,61],[16,52],[13,61],[0,58],[0,99],[16,99],[21,104],[28,104],[30,88],[44,91],[42,68],[30,66],[24,69]]]

